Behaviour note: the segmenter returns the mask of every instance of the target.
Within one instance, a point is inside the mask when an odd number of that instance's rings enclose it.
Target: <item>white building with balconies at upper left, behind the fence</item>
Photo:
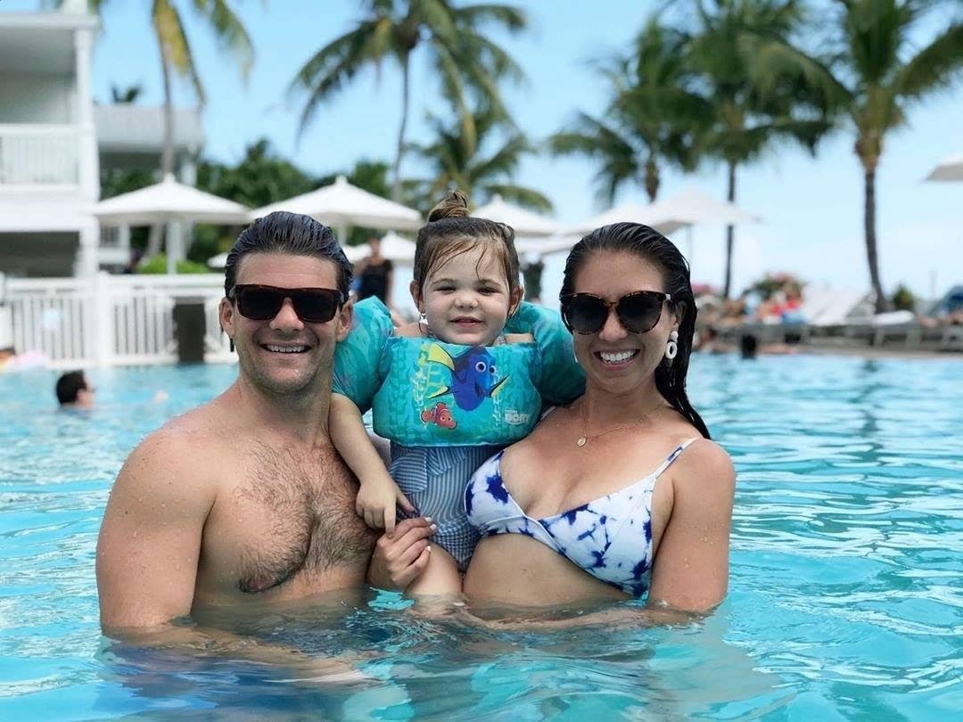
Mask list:
[[[0,6],[0,273],[8,277],[92,276],[129,256],[125,234],[101,243],[90,207],[100,196],[100,168],[159,166],[163,116],[158,108],[94,104],[97,27],[86,0],[65,0],[49,13]],[[178,111],[185,182],[194,182],[202,142],[199,114]]]

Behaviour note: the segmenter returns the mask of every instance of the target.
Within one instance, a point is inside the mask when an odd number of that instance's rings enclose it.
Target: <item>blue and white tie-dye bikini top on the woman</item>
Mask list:
[[[652,492],[656,480],[693,441],[680,444],[648,476],[544,519],[528,516],[508,493],[501,470],[505,451],[499,451],[469,480],[465,513],[482,536],[514,533],[534,537],[596,579],[640,597],[648,589],[652,566]]]

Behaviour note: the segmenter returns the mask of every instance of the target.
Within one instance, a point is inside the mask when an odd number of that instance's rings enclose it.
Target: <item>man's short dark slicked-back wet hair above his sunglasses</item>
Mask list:
[[[255,219],[234,242],[224,264],[224,296],[237,283],[241,260],[250,253],[287,253],[331,261],[338,274],[338,291],[348,298],[351,264],[334,238],[334,232],[310,216],[275,211]]]

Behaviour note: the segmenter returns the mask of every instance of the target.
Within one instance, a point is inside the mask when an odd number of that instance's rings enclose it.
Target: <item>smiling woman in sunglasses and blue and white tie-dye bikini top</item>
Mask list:
[[[686,261],[647,226],[605,226],[572,249],[560,301],[586,394],[472,477],[465,506],[484,538],[464,592],[536,606],[647,593],[708,610],[728,583],[735,474],[686,396]],[[420,573],[429,525],[409,520],[378,542],[375,583]]]

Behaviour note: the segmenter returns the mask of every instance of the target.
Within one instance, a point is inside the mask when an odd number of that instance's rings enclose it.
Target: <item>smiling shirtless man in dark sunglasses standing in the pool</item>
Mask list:
[[[327,435],[350,280],[330,229],[307,216],[273,213],[238,238],[220,310],[238,378],[120,470],[97,544],[105,632],[229,645],[171,621],[364,584],[375,536]]]

